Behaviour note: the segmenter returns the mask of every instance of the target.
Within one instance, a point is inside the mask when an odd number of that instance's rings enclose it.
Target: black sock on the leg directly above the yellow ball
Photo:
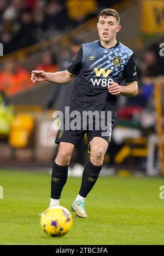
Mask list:
[[[63,186],[68,176],[68,165],[61,166],[54,162],[51,176],[51,198],[60,199]]]

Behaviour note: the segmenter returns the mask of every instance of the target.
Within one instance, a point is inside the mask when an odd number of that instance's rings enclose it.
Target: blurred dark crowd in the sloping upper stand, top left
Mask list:
[[[121,0],[120,0],[121,1]],[[4,54],[80,25],[115,0],[1,0],[0,42]],[[117,1],[118,2],[118,1]]]

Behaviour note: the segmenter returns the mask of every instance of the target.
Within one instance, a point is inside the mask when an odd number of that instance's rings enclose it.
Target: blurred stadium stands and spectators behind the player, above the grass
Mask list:
[[[134,53],[137,97],[118,98],[118,118],[102,174],[161,175],[163,161],[163,0],[1,0],[0,169],[49,170],[57,152],[52,113],[69,104],[67,85],[32,84],[30,73],[65,70],[80,44],[98,39],[97,15],[121,16],[118,40]],[[70,175],[81,176],[87,142],[73,154]]]

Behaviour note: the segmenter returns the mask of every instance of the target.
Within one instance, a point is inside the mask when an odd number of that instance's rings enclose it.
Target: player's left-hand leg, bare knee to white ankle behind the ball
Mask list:
[[[59,205],[61,192],[68,176],[68,164],[72,156],[74,144],[60,142],[58,153],[52,166],[51,205]]]

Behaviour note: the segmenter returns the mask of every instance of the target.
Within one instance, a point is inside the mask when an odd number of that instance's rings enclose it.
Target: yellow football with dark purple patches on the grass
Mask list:
[[[52,206],[45,210],[40,225],[49,236],[63,236],[72,227],[72,215],[62,206]]]

